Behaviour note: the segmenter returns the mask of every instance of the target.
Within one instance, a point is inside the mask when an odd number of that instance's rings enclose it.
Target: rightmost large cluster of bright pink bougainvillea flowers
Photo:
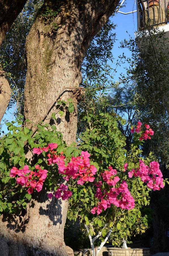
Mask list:
[[[132,169],[128,172],[128,177],[131,178],[133,175],[135,177],[140,177],[143,182],[147,184],[150,189],[160,190],[164,187],[162,173],[159,169],[158,162],[151,162],[150,166],[144,164],[142,160],[139,160],[139,168],[137,170]]]

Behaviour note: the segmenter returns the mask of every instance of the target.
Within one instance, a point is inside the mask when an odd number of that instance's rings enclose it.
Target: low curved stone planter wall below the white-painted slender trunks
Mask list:
[[[109,256],[150,256],[149,248],[108,248]]]

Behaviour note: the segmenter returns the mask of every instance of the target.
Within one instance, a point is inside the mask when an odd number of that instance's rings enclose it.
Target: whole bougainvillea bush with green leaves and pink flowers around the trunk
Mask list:
[[[91,235],[102,228],[101,240],[111,228],[111,241],[119,245],[136,230],[144,232],[147,216],[141,208],[149,204],[150,189],[164,187],[153,154],[141,158],[140,144],[153,131],[140,121],[131,127],[133,143],[127,151],[120,117],[99,113],[84,119],[88,128],[70,146],[54,125],[39,124],[32,138],[19,119],[7,123],[9,133],[0,139],[0,212],[19,213],[32,194],[45,190],[47,200],[69,199],[69,220],[79,219]]]

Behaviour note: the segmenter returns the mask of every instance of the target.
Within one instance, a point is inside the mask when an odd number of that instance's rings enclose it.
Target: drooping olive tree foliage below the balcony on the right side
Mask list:
[[[109,96],[110,105],[119,105],[115,111],[125,115],[128,123],[138,119],[150,123],[155,136],[144,144],[144,154],[153,150],[161,164],[168,167],[168,48],[165,33],[157,29],[142,32],[141,38],[124,40],[121,47],[128,48],[131,57],[127,75],[120,77],[120,84]],[[138,48],[140,47],[140,49]],[[129,126],[123,130],[131,141]]]

